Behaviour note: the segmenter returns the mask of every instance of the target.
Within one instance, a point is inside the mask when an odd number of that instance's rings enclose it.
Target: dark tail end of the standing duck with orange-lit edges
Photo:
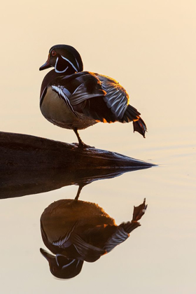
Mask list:
[[[134,125],[134,132],[139,132],[144,138],[145,138],[145,133],[147,131],[146,124],[144,123],[144,120],[140,117],[139,111],[135,109],[133,106],[128,105],[124,116],[123,116],[123,122],[124,123],[129,123],[133,122]]]

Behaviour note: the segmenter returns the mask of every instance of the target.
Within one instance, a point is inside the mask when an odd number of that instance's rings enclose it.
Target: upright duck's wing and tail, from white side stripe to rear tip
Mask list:
[[[129,105],[129,95],[113,78],[83,71],[55,79],[51,85],[71,109],[103,123],[130,123],[145,136],[146,125],[140,113]]]

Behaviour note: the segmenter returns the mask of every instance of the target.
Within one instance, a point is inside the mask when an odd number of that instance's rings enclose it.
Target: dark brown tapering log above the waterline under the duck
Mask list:
[[[153,164],[119,153],[77,144],[43,139],[27,134],[0,132],[0,169],[139,168]]]

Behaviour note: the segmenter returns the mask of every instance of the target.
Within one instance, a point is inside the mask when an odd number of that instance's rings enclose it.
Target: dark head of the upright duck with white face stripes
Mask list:
[[[55,67],[57,73],[72,74],[83,71],[83,62],[78,51],[69,45],[54,45],[49,50],[48,59],[39,70]]]

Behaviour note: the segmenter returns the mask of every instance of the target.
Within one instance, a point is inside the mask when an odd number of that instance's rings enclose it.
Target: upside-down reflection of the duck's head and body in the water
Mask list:
[[[132,221],[116,225],[104,209],[91,202],[59,200],[41,215],[43,243],[54,254],[40,249],[50,272],[59,279],[77,276],[83,262],[94,262],[109,253],[139,227],[147,205],[134,207]]]

